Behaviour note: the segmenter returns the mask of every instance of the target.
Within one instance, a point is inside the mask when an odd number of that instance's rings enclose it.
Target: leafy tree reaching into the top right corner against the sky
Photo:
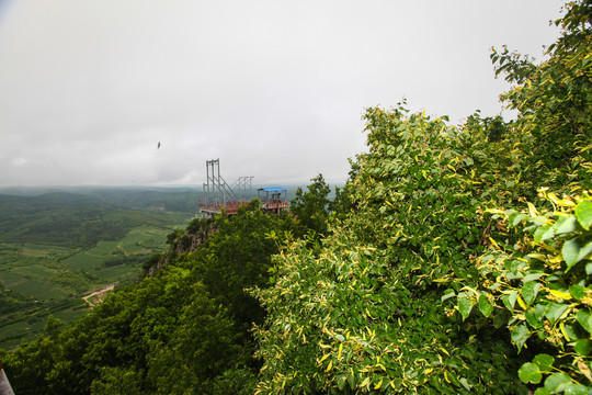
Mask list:
[[[540,65],[505,47],[491,54],[496,74],[516,84],[501,99],[520,112],[516,129],[522,142],[514,149],[533,157],[524,170],[546,187],[553,182],[566,191],[571,183],[592,188],[591,9],[589,0],[566,4],[566,15],[555,22],[561,36]]]

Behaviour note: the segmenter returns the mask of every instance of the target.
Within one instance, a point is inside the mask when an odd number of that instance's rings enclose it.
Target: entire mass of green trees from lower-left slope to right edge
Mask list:
[[[592,392],[592,3],[539,64],[493,50],[517,119],[369,108],[334,201],[169,236],[153,275],[11,353],[18,394]],[[254,328],[254,329],[253,329]]]

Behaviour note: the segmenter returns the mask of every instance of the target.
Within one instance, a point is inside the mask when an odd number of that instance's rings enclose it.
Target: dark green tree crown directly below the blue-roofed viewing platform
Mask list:
[[[269,285],[271,257],[280,252],[282,240],[292,237],[296,223],[287,215],[263,213],[257,204],[242,207],[237,215],[218,216],[204,248],[182,257],[213,297],[228,307],[241,328],[263,319],[260,304],[244,290]]]

